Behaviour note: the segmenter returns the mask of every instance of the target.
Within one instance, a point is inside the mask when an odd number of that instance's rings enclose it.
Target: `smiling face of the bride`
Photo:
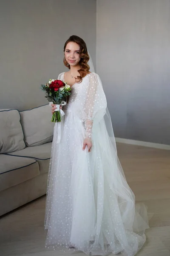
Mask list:
[[[65,59],[70,66],[77,66],[80,61],[80,46],[74,42],[69,42],[65,47]]]

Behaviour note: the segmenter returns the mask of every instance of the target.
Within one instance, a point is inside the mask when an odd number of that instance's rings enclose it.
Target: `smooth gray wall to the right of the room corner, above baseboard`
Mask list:
[[[115,136],[170,144],[170,0],[97,0],[96,42]]]

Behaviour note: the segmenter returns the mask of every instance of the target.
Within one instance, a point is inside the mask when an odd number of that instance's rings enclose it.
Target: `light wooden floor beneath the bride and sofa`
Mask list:
[[[148,207],[150,229],[137,256],[170,256],[170,151],[117,143],[127,183]],[[0,218],[0,256],[85,256],[45,249],[45,196]]]

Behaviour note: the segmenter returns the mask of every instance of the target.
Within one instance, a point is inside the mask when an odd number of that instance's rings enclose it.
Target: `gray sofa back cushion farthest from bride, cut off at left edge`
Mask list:
[[[20,113],[16,109],[0,110],[0,153],[9,153],[26,147]]]

